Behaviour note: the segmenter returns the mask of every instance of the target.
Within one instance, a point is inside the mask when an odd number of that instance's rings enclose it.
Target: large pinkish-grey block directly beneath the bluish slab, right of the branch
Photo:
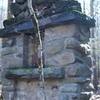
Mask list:
[[[71,37],[79,38],[78,28],[75,24],[62,25],[46,29],[44,42],[46,43],[47,41],[53,41],[55,39]]]

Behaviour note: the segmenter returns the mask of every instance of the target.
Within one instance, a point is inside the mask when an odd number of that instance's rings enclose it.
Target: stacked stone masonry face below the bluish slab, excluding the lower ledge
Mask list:
[[[85,31],[86,29],[84,28],[83,30]],[[82,97],[81,93],[85,92],[85,89],[90,84],[91,63],[85,61],[85,58],[88,56],[87,50],[81,47],[83,42],[78,40],[77,35],[80,36],[81,33],[79,32],[78,25],[75,24],[51,27],[45,30],[43,41],[45,65],[47,67],[62,67],[65,69],[65,78],[63,80],[46,80],[47,100],[84,100],[80,98]],[[15,38],[16,43],[13,46],[6,45],[2,49],[3,72],[9,67],[24,66],[23,40],[25,37],[19,36],[13,38]],[[28,43],[29,52],[27,54],[28,59],[26,59],[28,60],[27,65],[32,66],[34,44],[31,37],[28,38],[30,38]],[[11,43],[11,40],[12,38],[6,42]],[[38,47],[38,55],[40,56],[39,52],[40,49]],[[14,100],[43,100],[38,80],[16,80],[13,82],[3,78],[3,82],[5,100],[12,100],[15,94]],[[15,88],[16,93],[14,93]],[[87,90],[91,91],[91,89]]]

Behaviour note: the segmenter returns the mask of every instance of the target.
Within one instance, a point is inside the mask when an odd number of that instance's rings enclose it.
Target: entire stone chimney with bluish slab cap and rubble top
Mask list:
[[[71,0],[33,2],[44,52],[45,88],[40,84],[40,44],[26,0],[11,4],[15,16],[4,21],[2,83],[4,100],[89,100],[92,63],[90,28],[95,21]],[[34,0],[33,0],[34,1]],[[35,6],[34,6],[35,5]]]

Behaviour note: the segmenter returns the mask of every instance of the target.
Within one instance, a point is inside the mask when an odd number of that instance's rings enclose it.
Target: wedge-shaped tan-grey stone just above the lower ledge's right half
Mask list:
[[[45,64],[48,66],[66,66],[75,61],[83,61],[81,55],[72,49],[66,49],[52,57],[45,58]]]

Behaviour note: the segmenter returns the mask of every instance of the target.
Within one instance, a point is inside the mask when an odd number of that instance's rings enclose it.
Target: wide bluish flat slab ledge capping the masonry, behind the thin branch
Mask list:
[[[86,27],[95,27],[95,20],[81,14],[79,12],[63,12],[60,14],[52,15],[46,18],[39,19],[39,25],[41,29],[47,29],[49,27],[59,26],[75,23],[79,25],[85,25]],[[30,33],[33,34],[34,24],[30,19],[24,19],[20,22],[13,23],[8,27],[0,30],[0,37],[9,37],[14,35],[19,35],[20,33]]]

